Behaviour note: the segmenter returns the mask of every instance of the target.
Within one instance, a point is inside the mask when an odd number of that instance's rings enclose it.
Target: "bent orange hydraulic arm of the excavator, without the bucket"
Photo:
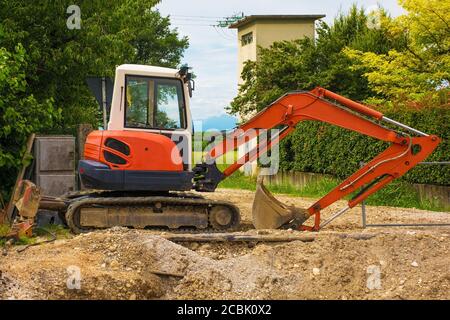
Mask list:
[[[332,102],[333,100],[339,104]],[[397,125],[418,137],[398,133],[368,118]],[[427,158],[440,142],[437,136],[427,135],[391,120],[383,116],[381,112],[318,87],[309,92],[293,92],[279,98],[249,121],[236,128],[221,143],[215,145],[208,152],[206,162],[214,162],[217,157],[259,136],[263,129],[284,127],[276,139],[269,142],[260,142],[260,145],[226,168],[222,175],[215,175],[216,179],[219,177],[219,180],[222,180],[243,164],[256,160],[275,143],[290,134],[298,122],[305,120],[323,121],[391,143],[385,151],[307,209],[310,215],[315,215],[313,227],[302,226],[302,229],[307,230],[318,230],[392,180],[401,177]],[[212,189],[217,186],[217,183],[214,184]],[[212,191],[206,189],[203,189],[203,191]],[[198,187],[198,190],[202,190],[202,187]],[[322,209],[358,190],[361,191],[348,201],[345,208],[334,214],[328,221],[320,223],[320,211]]]

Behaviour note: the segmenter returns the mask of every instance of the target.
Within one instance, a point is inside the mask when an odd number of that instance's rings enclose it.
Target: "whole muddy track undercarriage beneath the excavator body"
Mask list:
[[[114,226],[230,231],[240,222],[232,203],[192,193],[83,192],[60,200],[66,206],[59,212],[74,233]]]

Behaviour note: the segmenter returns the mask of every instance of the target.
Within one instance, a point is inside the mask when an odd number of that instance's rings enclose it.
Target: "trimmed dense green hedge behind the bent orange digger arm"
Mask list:
[[[426,161],[450,160],[450,108],[386,108],[387,117],[442,139]],[[360,161],[368,162],[388,147],[385,142],[322,122],[305,121],[280,144],[280,168],[327,173],[346,178],[358,170]],[[450,166],[419,165],[403,179],[411,183],[450,185]]]

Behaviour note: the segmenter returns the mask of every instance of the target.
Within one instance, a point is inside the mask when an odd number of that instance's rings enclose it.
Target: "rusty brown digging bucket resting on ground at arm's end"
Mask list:
[[[309,214],[305,209],[286,206],[278,201],[258,178],[252,207],[253,225],[256,229],[297,228]]]

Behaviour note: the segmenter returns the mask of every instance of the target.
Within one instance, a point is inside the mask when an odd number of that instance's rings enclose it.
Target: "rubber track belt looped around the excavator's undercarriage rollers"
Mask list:
[[[210,199],[204,199],[204,198],[186,198],[186,197],[165,197],[165,196],[147,196],[147,197],[90,197],[90,198],[83,198],[81,200],[71,199],[72,203],[67,208],[65,217],[67,225],[70,227],[72,232],[78,234],[78,233],[84,233],[93,231],[94,228],[85,228],[83,226],[80,226],[78,221],[78,213],[79,209],[82,207],[90,207],[93,205],[104,205],[104,206],[117,206],[117,207],[137,207],[137,206],[148,206],[155,202],[161,202],[164,204],[171,204],[171,205],[180,205],[180,206],[186,206],[186,205],[194,205],[194,206],[201,206],[203,208],[210,208],[212,206],[222,205],[230,208],[234,213],[234,219],[232,225],[227,228],[226,230],[230,231],[239,226],[240,222],[240,214],[239,214],[239,208],[236,207],[231,202],[227,201],[221,201],[221,200],[210,200]],[[208,210],[209,213],[209,210]],[[209,220],[209,217],[208,217]],[[211,226],[211,224],[210,224]],[[167,230],[167,229],[165,229]],[[198,230],[201,232],[205,231],[221,231],[224,230],[218,230],[213,229],[211,227],[206,229],[186,229],[186,228],[180,228],[180,229],[169,229],[170,231],[193,231]]]

